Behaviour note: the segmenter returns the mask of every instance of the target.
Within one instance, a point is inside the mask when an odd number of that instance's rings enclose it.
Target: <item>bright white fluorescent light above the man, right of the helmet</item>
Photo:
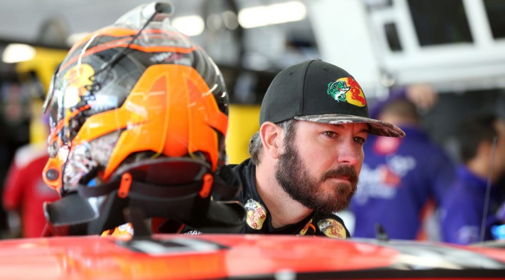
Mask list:
[[[238,23],[243,28],[301,21],[307,17],[307,8],[299,1],[245,8],[238,12]]]

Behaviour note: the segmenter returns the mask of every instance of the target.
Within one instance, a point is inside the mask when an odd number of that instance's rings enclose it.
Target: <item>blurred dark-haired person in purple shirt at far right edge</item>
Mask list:
[[[443,241],[469,244],[499,238],[493,230],[505,224],[505,193],[496,185],[505,174],[505,122],[495,115],[468,119],[459,129],[458,140],[463,164],[442,204]]]

